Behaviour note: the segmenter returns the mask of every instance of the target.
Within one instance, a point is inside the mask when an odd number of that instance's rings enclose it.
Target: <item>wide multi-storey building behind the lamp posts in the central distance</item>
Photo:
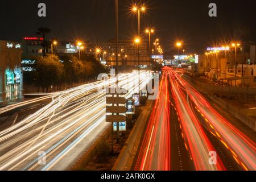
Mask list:
[[[148,53],[147,43],[141,43],[140,46],[140,64],[141,67],[148,67],[151,64],[150,55]],[[104,60],[106,64],[110,66],[115,66],[115,40],[111,40],[108,43],[105,43],[102,47],[102,52],[105,52]],[[129,40],[120,40],[118,42],[118,57],[119,65],[126,66],[137,66],[138,65],[138,46]]]

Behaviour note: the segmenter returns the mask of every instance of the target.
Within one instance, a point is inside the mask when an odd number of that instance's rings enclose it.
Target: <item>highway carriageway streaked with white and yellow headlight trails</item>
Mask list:
[[[141,74],[141,88],[149,76]],[[0,132],[0,170],[65,170],[110,126],[105,122],[106,85],[115,78],[46,94],[0,109],[0,114],[42,100],[51,102]],[[138,73],[119,76],[119,86],[138,93]],[[46,156],[44,163],[44,158]]]

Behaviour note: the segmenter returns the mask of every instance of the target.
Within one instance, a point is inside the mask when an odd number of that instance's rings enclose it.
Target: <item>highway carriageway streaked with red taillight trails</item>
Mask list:
[[[222,117],[182,74],[163,70],[135,169],[255,170],[254,140]]]

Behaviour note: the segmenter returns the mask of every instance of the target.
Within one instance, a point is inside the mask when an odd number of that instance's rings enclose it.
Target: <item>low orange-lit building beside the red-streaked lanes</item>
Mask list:
[[[238,86],[246,79],[253,79],[255,75],[254,63],[255,47],[251,46],[251,52],[237,50],[235,56],[234,49],[227,51],[214,51],[206,55],[199,55],[197,73],[204,75],[213,81],[232,82],[233,86]],[[235,59],[236,57],[236,59]]]

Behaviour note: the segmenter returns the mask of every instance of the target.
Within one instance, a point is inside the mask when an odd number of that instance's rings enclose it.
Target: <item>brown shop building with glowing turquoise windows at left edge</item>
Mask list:
[[[23,99],[21,44],[0,40],[0,103]]]

